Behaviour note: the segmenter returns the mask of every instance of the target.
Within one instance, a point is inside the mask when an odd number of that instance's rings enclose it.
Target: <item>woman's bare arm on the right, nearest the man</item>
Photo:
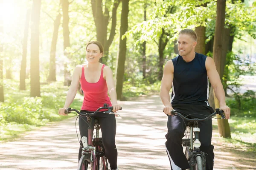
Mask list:
[[[113,106],[113,111],[116,112],[118,111],[121,107],[117,104],[117,99],[116,99],[116,88],[114,84],[114,79],[113,79],[113,72],[111,68],[108,66],[105,66],[103,69],[103,73],[105,75],[105,80],[108,86],[108,94],[111,99],[111,103]]]

